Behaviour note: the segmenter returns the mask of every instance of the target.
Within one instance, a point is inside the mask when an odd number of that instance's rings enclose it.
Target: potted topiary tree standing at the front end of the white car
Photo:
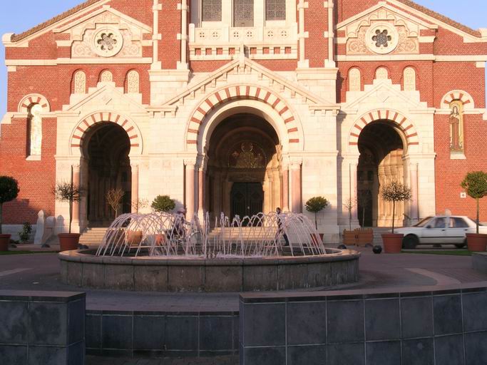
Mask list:
[[[402,248],[404,235],[394,233],[394,219],[396,217],[396,202],[405,202],[411,199],[411,189],[397,181],[391,181],[382,187],[381,196],[384,200],[392,202],[392,232],[382,234],[384,252],[399,253]]]

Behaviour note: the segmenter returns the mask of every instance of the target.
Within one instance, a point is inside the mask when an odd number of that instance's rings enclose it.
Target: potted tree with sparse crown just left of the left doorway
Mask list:
[[[56,183],[52,192],[56,200],[69,203],[69,232],[58,234],[61,251],[77,250],[81,235],[79,233],[71,233],[71,224],[73,222],[73,202],[81,200],[81,189],[78,185],[73,184],[73,175],[71,173],[71,182]]]

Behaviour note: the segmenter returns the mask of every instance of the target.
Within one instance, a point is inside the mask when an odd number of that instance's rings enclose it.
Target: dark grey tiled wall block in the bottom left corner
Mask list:
[[[0,363],[83,365],[85,294],[0,290]]]

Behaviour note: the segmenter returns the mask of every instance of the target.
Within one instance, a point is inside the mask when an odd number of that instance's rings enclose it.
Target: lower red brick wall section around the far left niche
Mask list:
[[[19,197],[4,205],[4,224],[35,224],[37,213],[54,214],[51,187],[56,180],[56,119],[42,120],[42,160],[27,161],[27,120],[14,119],[2,125],[0,138],[0,175],[19,181]]]

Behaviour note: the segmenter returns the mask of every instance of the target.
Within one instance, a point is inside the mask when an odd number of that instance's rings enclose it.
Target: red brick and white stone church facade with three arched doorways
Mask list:
[[[391,225],[392,180],[411,188],[404,224],[474,215],[460,183],[487,170],[487,29],[412,1],[90,0],[2,40],[14,232],[39,210],[66,230],[51,187],[71,175],[80,231],[113,219],[112,188],[123,212],[170,195],[212,219],[322,195],[332,242],[347,205],[354,226]]]

